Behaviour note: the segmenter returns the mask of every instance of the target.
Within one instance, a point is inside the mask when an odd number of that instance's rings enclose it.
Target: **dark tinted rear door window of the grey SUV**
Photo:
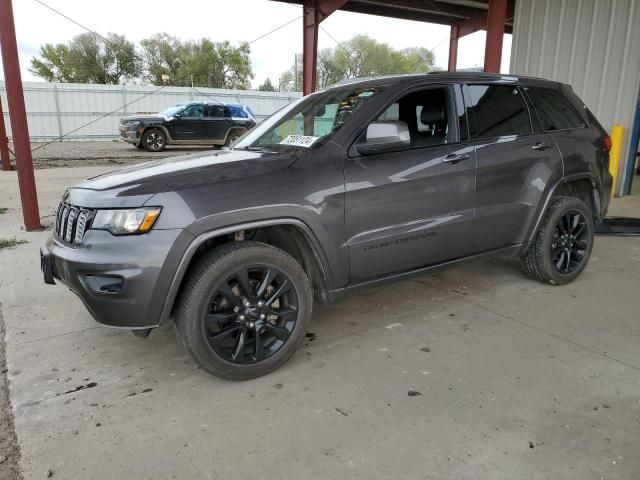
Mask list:
[[[501,137],[531,133],[529,113],[516,87],[469,85],[471,105],[467,107],[472,137]],[[473,119],[475,118],[475,122]]]

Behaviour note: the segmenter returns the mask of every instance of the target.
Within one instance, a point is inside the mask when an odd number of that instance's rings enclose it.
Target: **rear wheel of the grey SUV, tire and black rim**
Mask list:
[[[593,214],[582,200],[573,197],[555,200],[521,257],[524,272],[552,285],[572,282],[587,266],[593,232]]]

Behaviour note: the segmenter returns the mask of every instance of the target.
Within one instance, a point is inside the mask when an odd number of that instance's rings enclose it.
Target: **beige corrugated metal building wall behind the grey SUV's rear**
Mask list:
[[[623,125],[626,162],[640,89],[639,0],[517,0],[510,70],[568,83],[607,130]]]

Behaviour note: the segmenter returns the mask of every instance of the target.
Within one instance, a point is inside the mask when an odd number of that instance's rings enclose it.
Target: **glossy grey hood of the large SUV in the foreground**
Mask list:
[[[156,193],[264,175],[296,159],[291,153],[246,150],[165,158],[88,178],[69,190],[69,202],[87,208],[139,206]]]

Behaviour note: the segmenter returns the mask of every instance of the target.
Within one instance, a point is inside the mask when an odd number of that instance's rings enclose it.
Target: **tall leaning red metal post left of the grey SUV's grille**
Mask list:
[[[2,48],[2,64],[4,66],[7,101],[11,117],[11,131],[13,132],[20,200],[22,201],[22,216],[25,229],[31,232],[41,228],[40,212],[38,210],[36,181],[33,174],[29,127],[27,126],[27,113],[24,106],[18,44],[11,0],[0,0],[0,47]]]

